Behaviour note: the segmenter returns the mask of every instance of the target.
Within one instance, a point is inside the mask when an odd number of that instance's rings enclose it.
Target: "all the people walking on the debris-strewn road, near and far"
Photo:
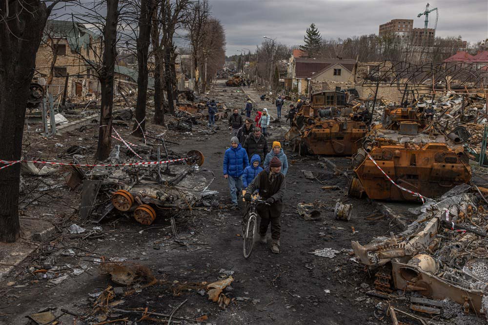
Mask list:
[[[212,100],[208,104],[209,126],[215,124],[216,105]],[[281,118],[285,99],[279,96],[275,105],[277,117]],[[303,103],[299,100],[297,107],[290,104],[287,119],[291,122]],[[212,115],[212,113],[213,115]],[[266,231],[271,225],[271,251],[279,253],[280,249],[280,217],[283,210],[283,197],[286,188],[288,159],[279,141],[273,141],[268,147],[269,134],[267,129],[271,116],[266,108],[256,111],[254,121],[251,118],[253,104],[246,101],[245,118],[234,109],[228,118],[231,130],[230,148],[224,153],[223,174],[227,179],[232,209],[240,209],[239,202],[250,201],[253,195],[259,194],[268,205],[258,205],[256,210],[261,217],[259,226],[260,242],[266,243]],[[254,123],[253,123],[254,122]]]

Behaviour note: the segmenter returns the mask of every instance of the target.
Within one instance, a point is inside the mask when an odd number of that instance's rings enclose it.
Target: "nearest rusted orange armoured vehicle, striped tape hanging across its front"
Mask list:
[[[385,108],[382,122],[363,139],[353,157],[356,177],[349,195],[423,200],[471,179],[468,156],[461,145],[433,128],[421,132],[427,124],[423,109]]]

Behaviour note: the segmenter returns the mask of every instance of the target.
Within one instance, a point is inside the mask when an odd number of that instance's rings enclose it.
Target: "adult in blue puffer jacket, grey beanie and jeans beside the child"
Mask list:
[[[243,187],[244,169],[249,166],[249,158],[246,151],[239,143],[239,139],[233,136],[230,139],[230,148],[224,153],[223,172],[224,178],[229,183],[232,208],[238,209],[238,199]]]

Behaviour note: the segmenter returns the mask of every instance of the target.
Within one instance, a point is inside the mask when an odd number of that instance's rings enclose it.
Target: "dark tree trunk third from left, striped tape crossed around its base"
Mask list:
[[[142,136],[145,130],[146,101],[147,101],[147,53],[151,37],[151,19],[154,12],[153,0],[141,0],[141,14],[139,16],[139,35],[137,37],[137,104],[136,122],[132,130],[136,136]]]

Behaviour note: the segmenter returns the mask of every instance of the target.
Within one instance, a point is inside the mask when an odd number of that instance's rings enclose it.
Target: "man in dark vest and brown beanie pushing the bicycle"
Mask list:
[[[259,241],[266,244],[266,231],[271,223],[271,251],[279,253],[280,249],[280,216],[283,210],[283,196],[285,195],[285,175],[281,173],[281,161],[273,157],[269,166],[260,172],[246,189],[244,200],[250,202],[252,193],[259,190],[259,195],[268,205],[258,205],[256,210],[261,217],[259,225]]]

